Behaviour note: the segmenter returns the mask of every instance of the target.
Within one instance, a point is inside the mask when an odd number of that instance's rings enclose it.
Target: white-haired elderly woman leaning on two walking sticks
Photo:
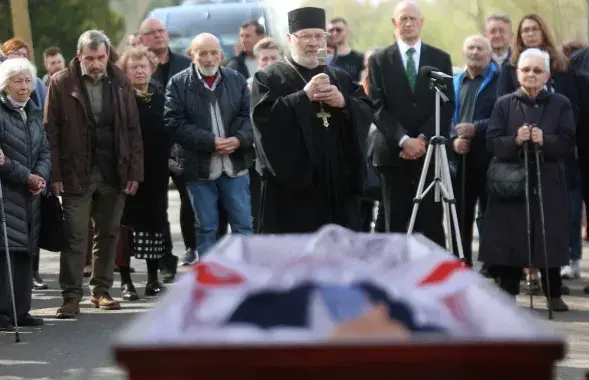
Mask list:
[[[547,53],[539,49],[524,51],[517,75],[521,87],[501,97],[495,105],[487,130],[487,146],[502,162],[521,162],[523,144],[540,150],[548,265],[542,249],[535,155],[530,149],[532,264],[540,268],[544,294],[551,297],[548,302],[554,310],[566,311],[568,306],[561,298],[560,266],[568,262],[570,213],[565,159],[575,146],[573,110],[565,96],[545,90],[550,78]],[[493,266],[501,288],[514,296],[519,293],[522,270],[528,266],[526,225],[524,199],[501,199],[489,193],[479,260]]]

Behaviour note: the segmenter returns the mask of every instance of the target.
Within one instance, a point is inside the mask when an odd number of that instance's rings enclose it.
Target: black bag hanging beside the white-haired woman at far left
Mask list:
[[[60,252],[64,247],[63,209],[53,192],[41,194],[41,230],[39,248]]]

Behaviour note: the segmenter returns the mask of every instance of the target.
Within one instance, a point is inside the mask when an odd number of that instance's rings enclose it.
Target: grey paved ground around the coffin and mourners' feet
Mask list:
[[[179,200],[175,191],[170,192],[170,220],[173,222],[172,234],[177,253],[181,253],[180,228],[177,224]],[[589,247],[585,248],[589,258]],[[137,273],[134,281],[140,292],[146,281],[146,268],[142,261],[132,264]],[[587,270],[584,277],[589,279],[589,259],[584,262]],[[96,311],[86,298],[82,303],[82,315],[78,320],[58,320],[53,318],[60,303],[57,283],[59,256],[43,252],[41,256],[42,276],[50,289],[35,292],[33,295],[34,315],[45,318],[43,328],[26,329],[22,333],[22,343],[15,345],[13,336],[0,333],[0,379],[83,379],[119,380],[124,373],[114,364],[110,343],[116,332],[135,315],[152,307],[156,299],[146,299],[135,303],[123,303],[117,312]],[[118,281],[115,283],[118,284]],[[570,345],[567,359],[560,363],[556,378],[562,380],[583,379],[589,369],[589,296],[582,293],[588,281],[571,282],[572,294],[566,297],[573,311],[558,314],[552,322],[568,338]],[[113,296],[120,297],[114,290]],[[546,318],[544,302],[536,297],[538,314]],[[520,296],[518,302],[527,305],[527,298]]]

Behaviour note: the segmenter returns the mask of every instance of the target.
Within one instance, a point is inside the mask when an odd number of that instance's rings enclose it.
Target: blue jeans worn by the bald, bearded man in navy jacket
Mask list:
[[[232,233],[243,235],[253,233],[248,174],[237,178],[230,178],[223,174],[215,180],[189,181],[186,187],[196,216],[196,243],[201,257],[217,240],[219,200],[227,212]]]

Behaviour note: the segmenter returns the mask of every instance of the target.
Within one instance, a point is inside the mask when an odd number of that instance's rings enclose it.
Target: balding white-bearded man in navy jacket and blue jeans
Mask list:
[[[164,118],[184,151],[184,178],[197,216],[197,249],[204,255],[217,239],[219,200],[231,231],[252,233],[248,169],[253,134],[250,91],[242,75],[219,67],[219,39],[199,34],[190,52],[192,65],[168,83]]]

